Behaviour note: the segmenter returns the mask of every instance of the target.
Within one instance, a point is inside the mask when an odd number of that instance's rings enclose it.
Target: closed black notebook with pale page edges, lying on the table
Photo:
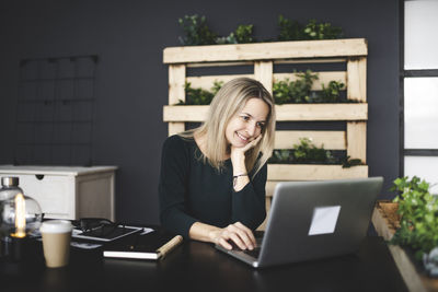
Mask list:
[[[159,231],[148,234],[132,234],[104,247],[103,256],[111,258],[159,259],[183,242],[181,235]]]

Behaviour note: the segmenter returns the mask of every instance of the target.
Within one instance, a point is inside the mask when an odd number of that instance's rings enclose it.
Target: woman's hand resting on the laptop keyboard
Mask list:
[[[232,249],[230,241],[241,249],[252,250],[256,246],[253,232],[240,222],[230,224],[224,229],[211,231],[210,238],[215,244],[227,249]]]

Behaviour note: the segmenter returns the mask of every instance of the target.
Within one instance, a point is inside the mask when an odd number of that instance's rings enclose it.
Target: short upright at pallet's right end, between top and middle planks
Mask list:
[[[347,98],[367,101],[367,58],[349,58],[347,62]]]

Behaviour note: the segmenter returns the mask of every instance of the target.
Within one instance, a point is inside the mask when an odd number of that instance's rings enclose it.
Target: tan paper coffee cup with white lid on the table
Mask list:
[[[72,229],[70,221],[67,220],[43,222],[39,231],[43,236],[44,258],[48,268],[60,268],[68,265]]]

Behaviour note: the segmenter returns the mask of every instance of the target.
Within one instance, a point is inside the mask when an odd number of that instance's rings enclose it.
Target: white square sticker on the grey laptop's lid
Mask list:
[[[341,206],[316,207],[313,210],[309,235],[334,233],[339,211]]]

